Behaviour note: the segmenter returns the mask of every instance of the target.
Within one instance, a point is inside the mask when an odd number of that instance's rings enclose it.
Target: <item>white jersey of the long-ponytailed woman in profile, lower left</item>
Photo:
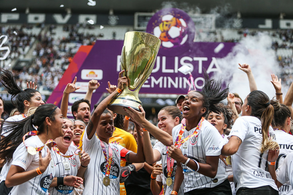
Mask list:
[[[32,136],[25,140],[26,146],[32,147],[41,147],[44,144],[39,139],[38,136]],[[13,153],[12,165],[20,166],[25,171],[35,170],[39,167],[39,154],[30,155],[26,147],[21,143],[15,152]],[[48,146],[45,145],[42,152],[42,157],[44,158],[47,155]],[[51,156],[52,156],[52,150]],[[9,193],[9,195],[22,195],[22,194],[31,194],[31,195],[48,195],[50,184],[55,177],[56,164],[52,157],[50,164],[43,174],[37,175],[36,177],[30,179],[29,181],[22,183],[20,185],[14,186]]]

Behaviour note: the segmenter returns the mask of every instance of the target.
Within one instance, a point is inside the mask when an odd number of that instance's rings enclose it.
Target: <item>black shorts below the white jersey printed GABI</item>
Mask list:
[[[239,188],[236,195],[278,195],[279,192],[271,186],[262,186],[258,188]]]

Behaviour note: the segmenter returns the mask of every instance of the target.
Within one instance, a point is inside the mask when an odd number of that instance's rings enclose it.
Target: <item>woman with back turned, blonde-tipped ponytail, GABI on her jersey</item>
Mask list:
[[[274,105],[274,106],[273,106]],[[239,117],[223,146],[222,155],[232,156],[236,194],[275,195],[275,163],[279,145],[270,126],[274,110],[280,107],[262,91],[248,94]]]

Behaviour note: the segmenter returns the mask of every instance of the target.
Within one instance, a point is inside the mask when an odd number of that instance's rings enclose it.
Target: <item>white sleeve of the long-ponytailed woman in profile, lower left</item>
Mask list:
[[[39,153],[36,154],[39,157]],[[13,159],[12,159],[12,165],[16,165],[16,166],[20,166],[21,168],[23,168],[24,170],[26,170],[31,162],[33,161],[33,159],[35,158],[35,155],[30,155],[27,150],[26,147],[24,146],[23,143],[21,143],[17,149],[15,150],[15,152],[13,153]]]

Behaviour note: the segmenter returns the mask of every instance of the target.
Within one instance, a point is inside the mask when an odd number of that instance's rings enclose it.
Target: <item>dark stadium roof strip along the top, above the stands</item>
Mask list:
[[[210,13],[218,7],[219,12],[240,12],[246,17],[279,17],[280,13],[285,13],[287,17],[293,16],[292,0],[174,0],[168,2],[163,0],[95,0],[95,6],[88,6],[89,1],[94,0],[2,0],[0,12],[11,12],[15,7],[18,12],[25,12],[28,7],[32,13],[62,13],[66,11],[66,8],[70,8],[72,13],[77,14],[106,13],[110,9],[113,9],[115,13],[134,13],[154,12],[166,6],[173,6],[191,12],[198,7],[201,13]]]

